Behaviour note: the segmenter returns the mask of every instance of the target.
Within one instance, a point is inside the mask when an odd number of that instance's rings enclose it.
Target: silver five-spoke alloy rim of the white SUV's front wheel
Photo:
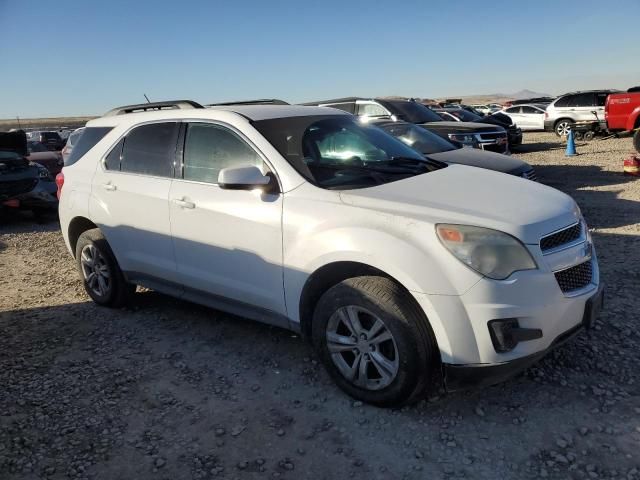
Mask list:
[[[327,348],[340,373],[354,385],[380,390],[396,378],[398,347],[384,322],[369,310],[339,308],[326,329]]]

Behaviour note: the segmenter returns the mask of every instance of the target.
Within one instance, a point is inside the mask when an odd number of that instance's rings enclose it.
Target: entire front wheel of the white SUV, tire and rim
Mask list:
[[[384,277],[356,277],[329,289],[313,317],[316,350],[352,397],[391,407],[419,400],[437,373],[437,346],[410,294]]]

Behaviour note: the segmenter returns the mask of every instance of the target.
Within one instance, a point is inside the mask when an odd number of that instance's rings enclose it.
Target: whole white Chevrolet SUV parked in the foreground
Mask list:
[[[298,331],[376,405],[441,375],[503,380],[602,303],[570,197],[425,159],[336,109],[123,107],[87,124],[58,184],[96,303],[143,285]]]

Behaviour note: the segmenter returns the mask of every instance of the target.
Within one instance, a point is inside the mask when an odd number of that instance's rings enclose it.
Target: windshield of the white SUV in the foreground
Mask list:
[[[322,188],[365,188],[442,168],[350,115],[277,118],[253,125],[303,177]]]

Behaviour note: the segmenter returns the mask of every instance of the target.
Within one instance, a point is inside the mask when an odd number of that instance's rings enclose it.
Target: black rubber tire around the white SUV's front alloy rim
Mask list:
[[[394,355],[397,359],[397,373],[383,388],[370,389],[357,385],[356,381],[343,375],[332,359],[327,328],[340,309],[347,306],[359,307],[370,312],[372,318],[382,320],[384,327],[392,335],[392,340],[389,341],[393,342],[394,352],[397,352],[397,356]],[[439,378],[438,347],[426,316],[415,300],[388,278],[350,278],[330,288],[316,306],[312,337],[320,359],[336,384],[348,395],[366,403],[380,407],[397,407],[413,403],[423,398],[429,387]],[[373,353],[369,353],[370,356],[364,354],[364,358],[372,358],[377,353],[374,350],[371,352]],[[355,350],[352,355],[356,356]],[[368,368],[375,368],[375,365],[372,365],[375,362],[372,360],[365,362],[368,365],[365,371],[369,372],[371,370],[367,370]],[[356,363],[357,360],[354,360],[354,365]],[[376,371],[379,369],[373,370],[374,375]]]

